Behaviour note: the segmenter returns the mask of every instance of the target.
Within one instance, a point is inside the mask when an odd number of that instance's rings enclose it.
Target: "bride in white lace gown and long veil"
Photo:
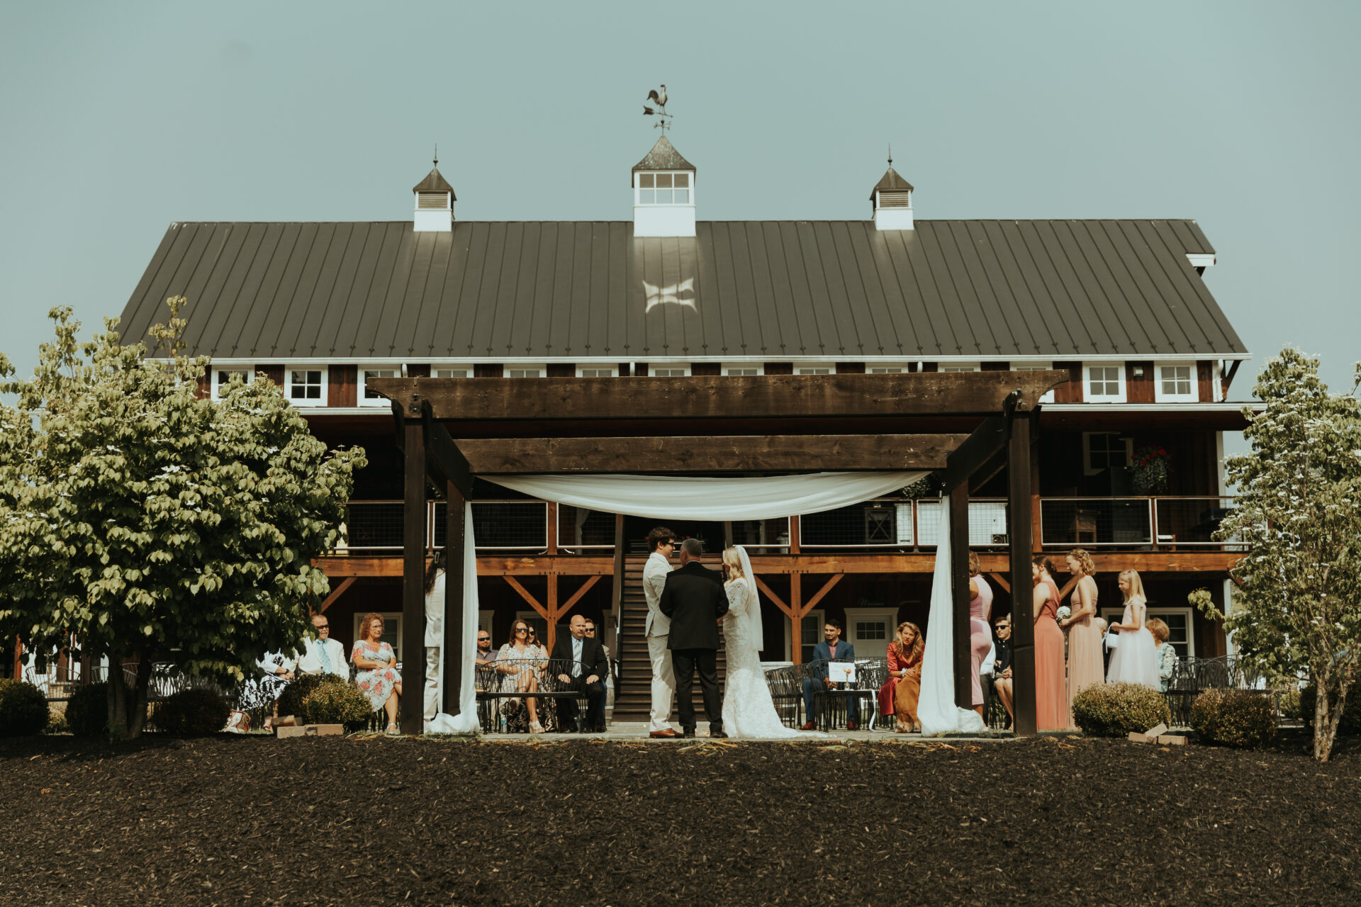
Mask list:
[[[761,669],[761,602],[751,560],[742,545],[723,552],[728,574],[723,583],[728,592],[728,613],[723,616],[723,638],[728,653],[728,683],[723,696],[723,729],[728,737],[772,738],[804,737],[785,728],[776,714],[770,688]]]

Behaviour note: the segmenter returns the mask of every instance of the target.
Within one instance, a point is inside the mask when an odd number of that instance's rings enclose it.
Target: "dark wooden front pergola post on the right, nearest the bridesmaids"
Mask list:
[[[1011,691],[1018,736],[1033,736],[1034,710],[1034,605],[1030,582],[1030,461],[1033,412],[1011,413],[1007,442],[1007,533],[1011,553]]]

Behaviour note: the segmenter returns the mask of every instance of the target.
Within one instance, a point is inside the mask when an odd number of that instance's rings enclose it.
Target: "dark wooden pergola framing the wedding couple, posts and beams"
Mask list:
[[[686,377],[373,378],[392,401],[404,462],[401,732],[422,730],[426,488],[448,500],[446,549],[464,543],[474,476],[536,473],[796,473],[940,470],[950,496],[955,702],[972,702],[969,492],[1009,475],[1013,589],[1029,586],[1032,458],[1040,398],[1067,371]],[[972,434],[915,430],[977,417]],[[615,601],[622,521],[615,532]],[[463,558],[448,558],[445,702],[460,700]],[[1015,729],[1036,733],[1034,635],[1029,596],[1013,594]],[[798,602],[800,612],[811,604]],[[788,612],[788,605],[783,608]],[[799,620],[793,620],[798,631]],[[415,654],[421,653],[421,654]]]

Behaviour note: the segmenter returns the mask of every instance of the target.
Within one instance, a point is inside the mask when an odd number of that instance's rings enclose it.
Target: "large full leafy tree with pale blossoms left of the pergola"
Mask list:
[[[157,352],[117,320],[79,343],[71,309],[29,381],[0,383],[0,634],[41,654],[75,634],[108,655],[109,729],[135,737],[154,662],[242,680],[293,649],[329,590],[312,559],[340,540],[362,449],[328,453],[263,377],[199,394],[184,298]],[[0,378],[14,369],[0,355]],[[117,669],[136,660],[136,681]]]

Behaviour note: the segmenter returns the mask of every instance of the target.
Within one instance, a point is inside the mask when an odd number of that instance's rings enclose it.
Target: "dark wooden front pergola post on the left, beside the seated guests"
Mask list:
[[[403,734],[419,734],[425,711],[426,432],[404,420],[401,496],[401,699]]]

